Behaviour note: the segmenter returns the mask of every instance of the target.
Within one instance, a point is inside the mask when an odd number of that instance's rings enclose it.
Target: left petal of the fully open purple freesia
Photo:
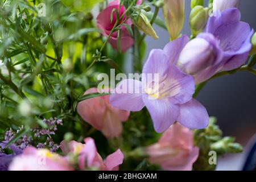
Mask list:
[[[122,110],[139,111],[144,107],[141,89],[141,81],[122,80],[110,95],[110,104]]]

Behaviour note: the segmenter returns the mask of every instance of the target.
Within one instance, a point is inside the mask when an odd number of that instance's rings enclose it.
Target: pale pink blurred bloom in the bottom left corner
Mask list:
[[[71,171],[73,168],[63,156],[46,149],[27,147],[16,156],[9,166],[10,171]]]

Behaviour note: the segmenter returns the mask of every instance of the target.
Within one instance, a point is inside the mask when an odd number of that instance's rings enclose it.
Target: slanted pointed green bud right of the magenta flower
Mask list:
[[[137,16],[134,16],[132,19],[135,26],[139,28],[139,30],[143,31],[145,34],[152,36],[154,39],[158,39],[158,35],[154,28],[152,27],[150,21],[147,19],[147,16],[141,11]]]

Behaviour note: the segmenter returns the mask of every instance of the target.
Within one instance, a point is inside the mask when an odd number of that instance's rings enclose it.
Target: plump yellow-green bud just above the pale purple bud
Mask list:
[[[207,20],[209,17],[209,8],[204,8],[203,6],[195,6],[191,10],[189,22],[191,27],[191,32],[193,36],[196,36],[201,31],[203,31]]]

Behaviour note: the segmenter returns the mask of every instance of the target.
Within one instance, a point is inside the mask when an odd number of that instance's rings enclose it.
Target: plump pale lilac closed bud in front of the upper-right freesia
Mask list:
[[[188,74],[196,74],[212,65],[214,62],[214,49],[205,39],[191,40],[181,51],[177,65]]]

